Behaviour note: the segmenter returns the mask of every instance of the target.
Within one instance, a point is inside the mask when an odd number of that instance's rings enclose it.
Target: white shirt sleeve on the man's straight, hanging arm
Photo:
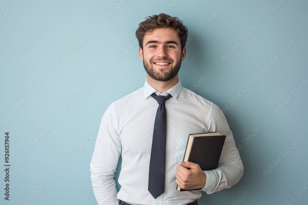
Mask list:
[[[101,120],[90,164],[93,192],[99,205],[119,205],[113,177],[120,153],[121,141],[112,103]]]

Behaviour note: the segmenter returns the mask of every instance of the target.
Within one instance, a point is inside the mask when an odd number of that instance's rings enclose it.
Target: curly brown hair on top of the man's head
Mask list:
[[[183,51],[187,41],[187,26],[184,26],[183,22],[180,21],[179,18],[171,17],[163,13],[148,16],[145,21],[139,24],[139,28],[136,30],[136,37],[141,49],[143,49],[144,35],[148,32],[151,34],[156,28],[172,28],[176,30],[181,41],[181,50]]]

